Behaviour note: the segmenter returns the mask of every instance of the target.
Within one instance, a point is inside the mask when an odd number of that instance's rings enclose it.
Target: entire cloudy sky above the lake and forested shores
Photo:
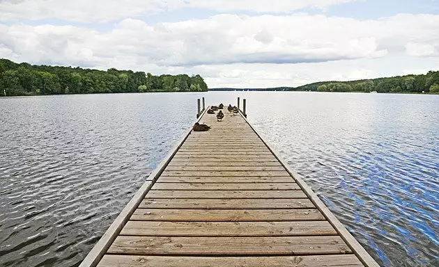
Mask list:
[[[210,88],[439,70],[439,0],[0,0],[0,58]]]

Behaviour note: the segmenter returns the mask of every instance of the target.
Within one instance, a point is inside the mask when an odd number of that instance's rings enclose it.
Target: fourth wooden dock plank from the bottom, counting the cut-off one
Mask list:
[[[130,220],[282,222],[325,220],[325,217],[317,209],[137,209]]]

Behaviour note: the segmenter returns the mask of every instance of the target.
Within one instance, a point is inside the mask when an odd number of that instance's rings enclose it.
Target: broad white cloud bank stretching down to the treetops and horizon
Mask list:
[[[199,73],[211,87],[297,86],[438,67],[437,54],[406,56],[419,44],[437,51],[437,29],[438,15],[377,20],[217,15],[155,25],[123,19],[105,33],[78,26],[0,24],[0,58],[156,74]]]

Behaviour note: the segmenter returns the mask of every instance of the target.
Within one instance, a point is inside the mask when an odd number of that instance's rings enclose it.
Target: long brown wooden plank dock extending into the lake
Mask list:
[[[242,114],[184,136],[81,266],[378,266]]]

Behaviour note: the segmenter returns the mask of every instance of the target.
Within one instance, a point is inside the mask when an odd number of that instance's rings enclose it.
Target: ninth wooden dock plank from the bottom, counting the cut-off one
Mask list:
[[[286,172],[286,170],[271,170],[271,171],[256,171],[256,172],[252,172],[252,171],[174,171],[174,170],[165,170],[163,172],[164,176],[179,176],[179,177],[183,177],[183,176],[192,176],[192,177],[201,177],[201,176],[209,176],[209,177],[215,177],[215,176],[219,176],[219,177],[224,177],[224,176],[229,176],[229,177],[241,177],[241,176],[265,176],[265,177],[272,177],[272,176],[287,176],[288,172]]]

